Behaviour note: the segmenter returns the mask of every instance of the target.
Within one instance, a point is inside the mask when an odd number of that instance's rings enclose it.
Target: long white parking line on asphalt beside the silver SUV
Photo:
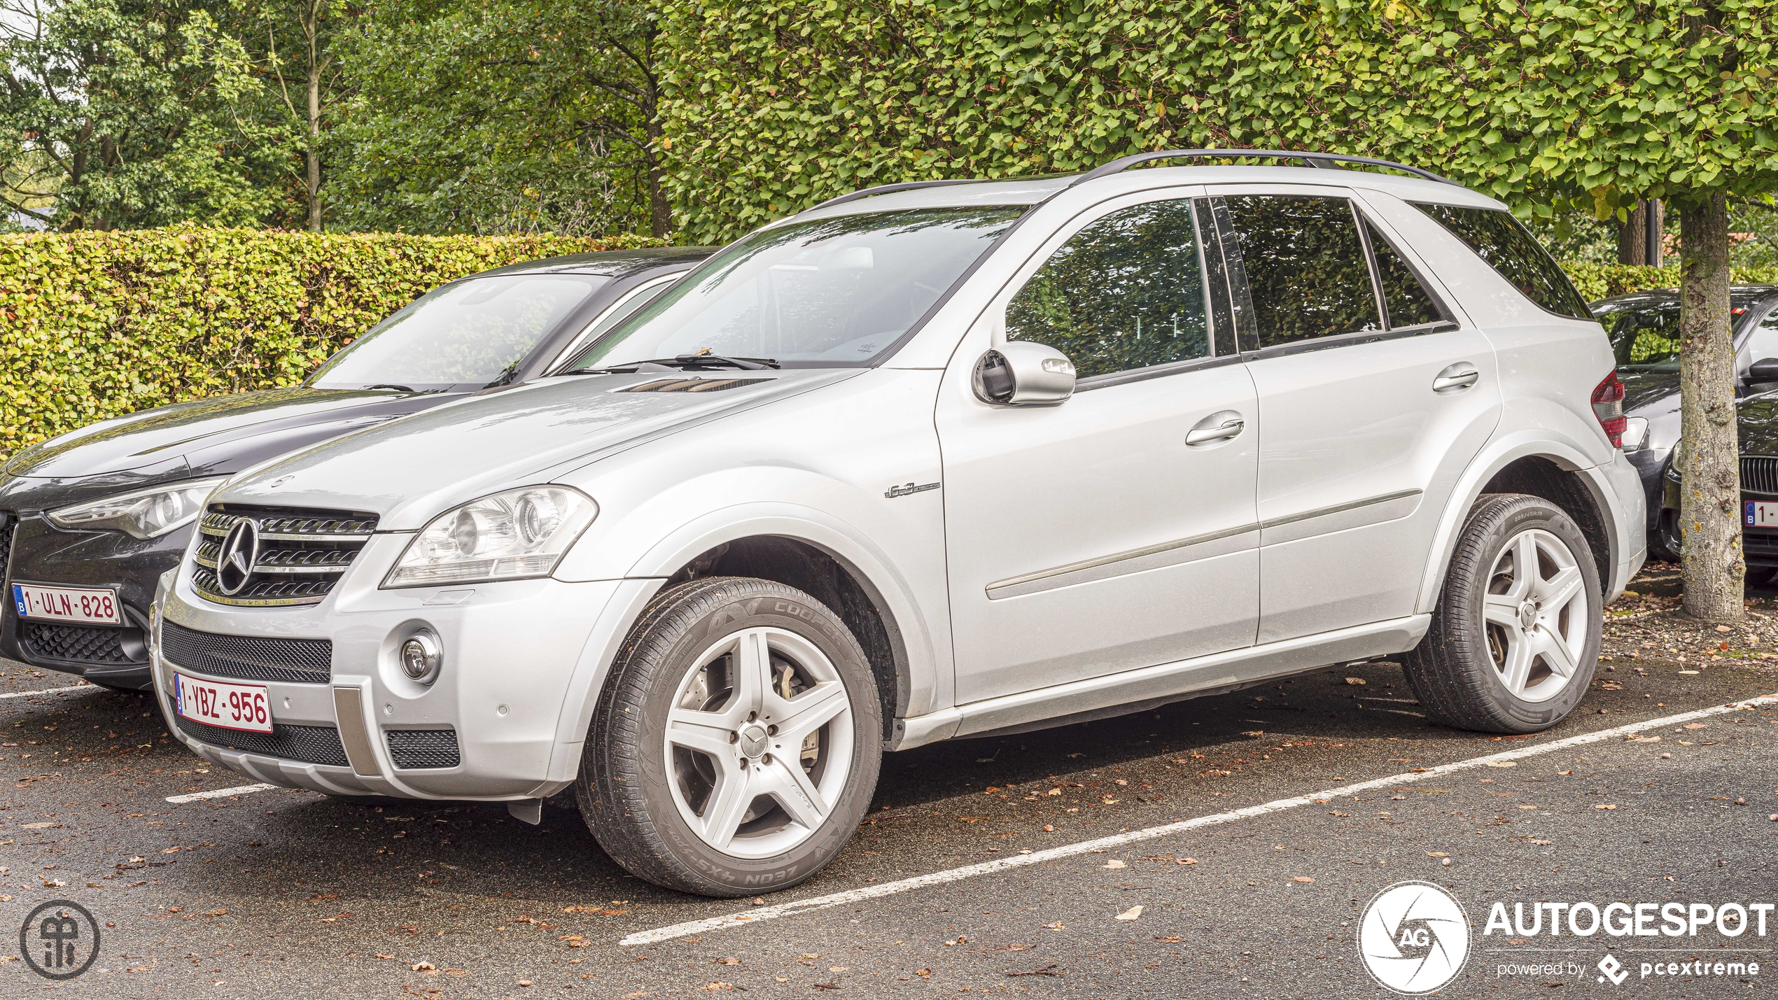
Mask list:
[[[757,924],[761,920],[777,920],[781,917],[795,917],[798,913],[809,913],[813,909],[827,909],[829,906],[845,906],[848,902],[861,902],[866,899],[877,899],[882,895],[896,895],[901,892],[912,892],[916,888],[926,888],[944,883],[955,883],[960,879],[973,879],[976,876],[989,876],[994,872],[1005,872],[1006,869],[1022,869],[1028,865],[1042,865],[1044,861],[1054,861],[1058,858],[1069,858],[1074,854],[1088,854],[1092,851],[1106,851],[1111,847],[1122,847],[1124,844],[1133,844],[1138,840],[1152,840],[1156,837],[1166,837],[1170,833],[1184,833],[1188,829],[1200,829],[1205,826],[1221,826],[1225,822],[1236,822],[1239,819],[1252,819],[1255,815],[1266,815],[1273,812],[1284,812],[1289,808],[1319,805],[1326,799],[1337,799],[1341,796],[1351,796],[1355,792],[1369,792],[1373,789],[1387,789],[1392,785],[1405,785],[1410,782],[1426,782],[1430,778],[1440,778],[1454,771],[1472,771],[1476,767],[1486,767],[1490,764],[1502,764],[1508,760],[1524,760],[1526,757],[1540,757],[1543,753],[1554,753],[1558,750],[1568,750],[1574,746],[1586,746],[1590,742],[1600,742],[1611,737],[1629,735],[1641,730],[1652,730],[1661,726],[1682,725],[1694,719],[1703,719],[1709,716],[1721,716],[1726,712],[1737,712],[1744,709],[1755,709],[1758,705],[1778,703],[1778,694],[1762,694],[1758,698],[1748,698],[1746,702],[1735,702],[1732,705],[1714,705],[1709,709],[1698,709],[1696,712],[1680,712],[1677,716],[1664,716],[1659,719],[1648,719],[1641,723],[1629,723],[1614,726],[1609,730],[1590,732],[1584,735],[1572,735],[1568,739],[1558,739],[1550,742],[1540,742],[1533,746],[1522,746],[1518,750],[1508,750],[1502,753],[1490,753],[1486,757],[1472,757],[1469,760],[1458,760],[1454,764],[1440,764],[1438,767],[1426,767],[1424,771],[1408,771],[1406,774],[1392,774],[1389,778],[1376,778],[1373,782],[1358,782],[1353,785],[1341,785],[1337,789],[1326,789],[1321,792],[1309,792],[1305,796],[1296,796],[1289,799],[1278,799],[1257,806],[1237,808],[1230,812],[1218,812],[1211,815],[1200,815],[1197,819],[1182,819],[1179,822],[1166,822],[1161,826],[1149,826],[1143,829],[1131,829],[1129,833],[1117,833],[1113,837],[1101,837],[1097,840],[1083,840],[1079,844],[1067,844],[1063,847],[1049,847],[1045,851],[1033,851],[1029,854],[1013,854],[1010,858],[996,858],[992,861],[983,861],[980,865],[965,865],[962,869],[949,869],[944,872],[932,872],[926,876],[916,876],[910,879],[900,879],[893,883],[873,885],[866,888],[853,888],[846,892],[836,892],[832,895],[816,895],[813,899],[798,899],[795,902],[781,902],[777,906],[763,906],[749,909],[747,913],[729,913],[727,917],[709,917],[706,920],[686,920],[685,924],[672,924],[667,927],[656,927],[653,931],[637,931],[622,941],[621,947],[629,945],[654,945],[660,941],[670,941],[674,938],[685,938],[686,934],[699,934],[704,931],[718,931],[724,927],[736,927],[743,924]]]

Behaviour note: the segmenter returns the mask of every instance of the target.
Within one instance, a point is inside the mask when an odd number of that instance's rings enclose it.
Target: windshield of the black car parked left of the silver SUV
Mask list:
[[[332,355],[309,385],[480,389],[510,378],[605,282],[583,274],[514,274],[436,288]]]

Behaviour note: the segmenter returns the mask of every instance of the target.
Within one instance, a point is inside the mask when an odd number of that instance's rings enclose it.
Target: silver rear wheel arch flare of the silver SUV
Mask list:
[[[1549,437],[1511,435],[1494,442],[1465,469],[1433,536],[1415,611],[1430,615],[1444,590],[1446,568],[1470,508],[1483,494],[1529,494],[1559,506],[1593,549],[1598,581],[1611,599],[1616,586],[1620,524],[1609,483],[1575,446]]]

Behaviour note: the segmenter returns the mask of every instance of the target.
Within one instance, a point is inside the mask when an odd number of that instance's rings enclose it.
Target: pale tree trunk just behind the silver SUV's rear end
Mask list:
[[[1680,536],[1686,613],[1739,622],[1742,583],[1735,348],[1728,330],[1728,202],[1680,208]]]

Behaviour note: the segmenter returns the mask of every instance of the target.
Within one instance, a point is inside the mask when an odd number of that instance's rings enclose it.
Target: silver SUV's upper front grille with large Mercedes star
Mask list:
[[[252,522],[254,540],[244,579],[238,567],[217,567],[242,520]],[[320,604],[375,529],[373,513],[212,504],[197,522],[192,586],[217,604]]]

